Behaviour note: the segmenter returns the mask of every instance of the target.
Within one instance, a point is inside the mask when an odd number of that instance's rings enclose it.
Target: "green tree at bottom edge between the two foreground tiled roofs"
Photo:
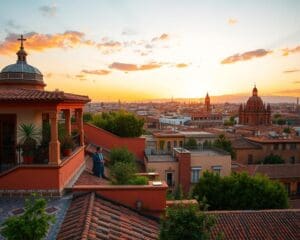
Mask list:
[[[199,210],[196,205],[176,204],[166,209],[161,219],[160,240],[208,240],[215,217]]]

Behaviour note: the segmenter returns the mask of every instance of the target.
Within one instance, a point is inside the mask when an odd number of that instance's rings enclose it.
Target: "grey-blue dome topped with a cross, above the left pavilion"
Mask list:
[[[21,41],[20,50],[17,52],[18,60],[15,64],[10,64],[0,72],[0,87],[18,87],[43,90],[46,84],[43,81],[42,73],[36,68],[27,64],[27,53],[24,50],[23,41]]]

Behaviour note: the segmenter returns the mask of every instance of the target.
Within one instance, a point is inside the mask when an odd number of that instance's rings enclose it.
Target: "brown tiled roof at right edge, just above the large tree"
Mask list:
[[[269,178],[300,178],[300,164],[256,165],[254,174],[260,173]]]

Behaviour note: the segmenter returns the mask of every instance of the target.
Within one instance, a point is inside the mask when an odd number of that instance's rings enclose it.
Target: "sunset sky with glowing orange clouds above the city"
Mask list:
[[[0,69],[94,101],[300,96],[298,0],[0,1]]]

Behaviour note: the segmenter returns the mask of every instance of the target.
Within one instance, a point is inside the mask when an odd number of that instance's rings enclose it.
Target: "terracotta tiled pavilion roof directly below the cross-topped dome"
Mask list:
[[[65,93],[62,91],[41,91],[23,88],[0,89],[0,102],[83,102],[90,99],[87,96]]]

